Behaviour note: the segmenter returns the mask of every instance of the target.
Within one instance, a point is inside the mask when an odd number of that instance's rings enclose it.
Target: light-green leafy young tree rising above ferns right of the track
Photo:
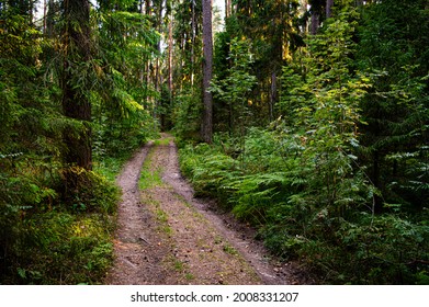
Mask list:
[[[285,69],[292,75],[286,77],[291,83],[285,90],[295,88],[282,98],[286,123],[294,126],[294,130],[283,128],[283,137],[300,137],[296,159],[305,166],[297,173],[303,190],[290,202],[339,216],[345,216],[350,206],[371,201],[368,196],[373,194],[355,156],[358,125],[362,122],[359,101],[370,84],[350,65],[353,18],[354,12],[348,10],[308,39],[308,50],[301,56],[307,71],[300,76],[294,67]]]

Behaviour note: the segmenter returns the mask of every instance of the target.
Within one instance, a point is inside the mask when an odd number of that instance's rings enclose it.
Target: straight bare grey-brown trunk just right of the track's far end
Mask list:
[[[212,0],[203,0],[203,122],[201,136],[211,144],[213,137],[213,96],[208,92],[213,75]]]

